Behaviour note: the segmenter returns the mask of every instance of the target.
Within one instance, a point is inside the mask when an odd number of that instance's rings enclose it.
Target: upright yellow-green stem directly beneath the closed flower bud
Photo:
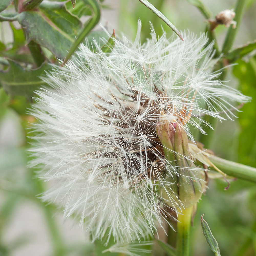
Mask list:
[[[185,208],[182,214],[178,214],[177,221],[177,256],[189,255],[189,234],[193,206]]]

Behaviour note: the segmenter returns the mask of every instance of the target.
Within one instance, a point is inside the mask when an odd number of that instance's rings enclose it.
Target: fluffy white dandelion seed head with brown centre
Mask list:
[[[141,239],[163,225],[168,209],[181,207],[171,195],[177,167],[165,157],[157,125],[179,124],[193,140],[189,125],[204,132],[202,115],[232,118],[232,104],[249,100],[212,73],[205,35],[181,41],[152,30],[141,44],[140,29],[139,22],[134,43],[115,40],[110,54],[82,45],[44,78],[50,88],[37,92],[31,110],[39,121],[30,166],[56,180],[42,198],[64,206],[66,217],[75,214],[93,239]]]

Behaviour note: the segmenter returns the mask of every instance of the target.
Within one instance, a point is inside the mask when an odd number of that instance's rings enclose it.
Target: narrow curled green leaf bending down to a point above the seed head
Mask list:
[[[97,0],[83,0],[85,4],[88,4],[93,12],[93,16],[84,24],[83,30],[80,32],[80,34],[77,36],[76,41],[71,46],[71,49],[68,52],[68,55],[66,56],[65,60],[62,63],[62,66],[70,59],[74,51],[77,49],[78,45],[84,37],[86,37],[89,32],[95,27],[95,25],[100,20],[100,6],[97,2]]]

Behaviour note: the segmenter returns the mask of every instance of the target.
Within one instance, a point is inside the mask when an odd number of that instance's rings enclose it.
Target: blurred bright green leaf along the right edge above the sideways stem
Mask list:
[[[252,57],[249,62],[238,60],[237,64],[233,68],[233,74],[239,79],[238,89],[252,97],[252,101],[246,103],[238,114],[238,162],[256,167],[256,57]]]

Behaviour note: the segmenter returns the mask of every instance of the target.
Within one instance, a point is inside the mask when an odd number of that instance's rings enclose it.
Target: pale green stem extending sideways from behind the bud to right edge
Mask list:
[[[256,168],[210,155],[209,160],[227,175],[256,182]]]

